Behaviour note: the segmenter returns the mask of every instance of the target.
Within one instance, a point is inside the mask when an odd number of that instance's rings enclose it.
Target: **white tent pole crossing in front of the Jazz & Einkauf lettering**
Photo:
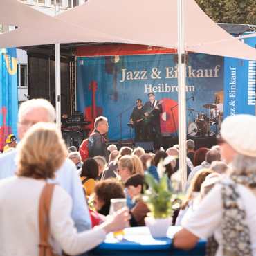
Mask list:
[[[185,99],[185,39],[184,39],[184,0],[177,0],[178,11],[178,86],[179,86],[179,168],[182,190],[185,192],[187,181],[186,163],[186,99]]]

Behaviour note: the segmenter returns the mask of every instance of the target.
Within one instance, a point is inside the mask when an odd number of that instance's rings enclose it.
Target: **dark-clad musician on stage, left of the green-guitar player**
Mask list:
[[[140,141],[140,133],[143,141],[147,141],[147,126],[143,122],[144,107],[141,99],[136,100],[137,107],[131,113],[130,122],[134,127],[134,141]]]

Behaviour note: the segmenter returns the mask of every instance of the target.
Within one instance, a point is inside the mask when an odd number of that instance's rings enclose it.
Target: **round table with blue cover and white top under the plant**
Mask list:
[[[200,239],[192,250],[170,251],[172,237],[181,229],[181,226],[170,226],[167,237],[154,239],[147,227],[125,228],[125,237],[118,241],[109,233],[102,244],[89,252],[89,255],[205,255],[206,241]]]

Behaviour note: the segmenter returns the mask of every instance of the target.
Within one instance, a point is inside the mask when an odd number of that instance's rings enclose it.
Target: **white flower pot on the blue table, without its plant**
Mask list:
[[[150,233],[154,238],[166,237],[168,228],[172,225],[172,217],[154,218],[152,216],[145,217],[145,224],[149,227]]]

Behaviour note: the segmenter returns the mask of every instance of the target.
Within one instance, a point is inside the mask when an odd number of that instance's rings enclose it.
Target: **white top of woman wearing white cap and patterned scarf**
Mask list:
[[[238,185],[238,191],[244,202],[244,210],[246,211],[246,223],[250,230],[250,241],[252,244],[253,255],[256,255],[256,196],[244,185]],[[222,199],[221,185],[217,184],[205,196],[198,210],[192,213],[192,216],[183,228],[192,232],[201,239],[207,239],[214,233],[214,237],[219,243],[216,255],[222,255]]]

